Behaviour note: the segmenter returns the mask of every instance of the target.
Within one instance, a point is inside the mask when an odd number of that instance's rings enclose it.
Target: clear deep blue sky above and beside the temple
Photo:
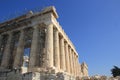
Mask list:
[[[85,61],[89,75],[120,67],[120,0],[1,0],[0,21],[25,10],[54,5],[61,26]]]

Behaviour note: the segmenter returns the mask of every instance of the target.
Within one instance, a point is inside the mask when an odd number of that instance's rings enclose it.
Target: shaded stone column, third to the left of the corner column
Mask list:
[[[11,54],[10,54],[11,41],[12,41],[12,33],[9,33],[9,38],[7,40],[7,44],[6,44],[3,58],[2,58],[2,63],[1,63],[2,68],[9,68],[9,62],[10,62],[10,56],[11,56]]]

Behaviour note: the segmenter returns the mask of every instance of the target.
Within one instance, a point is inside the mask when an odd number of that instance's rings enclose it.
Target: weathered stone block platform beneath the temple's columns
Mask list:
[[[39,69],[37,69],[39,70]],[[41,71],[42,69],[40,69]],[[80,80],[75,76],[69,75],[65,72],[27,72],[21,74],[18,70],[3,72],[0,80]],[[4,75],[4,76],[3,76]]]

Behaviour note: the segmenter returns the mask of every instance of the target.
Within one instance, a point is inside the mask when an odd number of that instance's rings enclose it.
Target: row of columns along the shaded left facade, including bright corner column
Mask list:
[[[33,37],[32,37],[32,43],[31,43],[31,51],[30,51],[30,60],[29,60],[29,68],[35,68],[37,65],[37,56],[38,56],[38,40],[39,40],[39,26],[36,25],[33,27]],[[46,32],[46,41],[45,41],[45,48],[46,48],[46,54],[45,54],[45,67],[53,67],[53,25],[46,26],[47,32]],[[12,32],[8,33],[8,40],[5,46],[5,50],[3,52],[3,57],[1,61],[1,68],[8,68],[10,63],[10,57],[11,57],[11,41],[12,41],[13,35]],[[20,37],[18,41],[18,46],[16,50],[15,59],[13,62],[13,68],[20,68],[22,65],[23,60],[23,53],[24,53],[24,44],[25,44],[25,32],[24,30],[20,30]],[[2,36],[0,35],[0,46],[2,42]]]

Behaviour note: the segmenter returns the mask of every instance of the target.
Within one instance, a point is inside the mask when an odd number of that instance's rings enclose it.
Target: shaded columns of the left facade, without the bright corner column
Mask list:
[[[36,65],[36,49],[37,49],[37,38],[38,38],[38,31],[37,27],[33,28],[33,38],[32,38],[32,45],[31,45],[31,53],[30,53],[30,62],[29,62],[29,67],[34,67]],[[10,58],[11,58],[11,41],[13,38],[13,33],[9,32],[8,33],[8,40],[3,52],[3,57],[1,61],[0,68],[9,68],[10,65]],[[18,46],[16,50],[16,55],[15,59],[13,62],[13,68],[20,68],[22,66],[22,61],[23,61],[23,54],[24,54],[24,44],[25,44],[25,31],[20,30],[20,37],[18,40]],[[0,39],[0,43],[2,42],[2,39]]]

